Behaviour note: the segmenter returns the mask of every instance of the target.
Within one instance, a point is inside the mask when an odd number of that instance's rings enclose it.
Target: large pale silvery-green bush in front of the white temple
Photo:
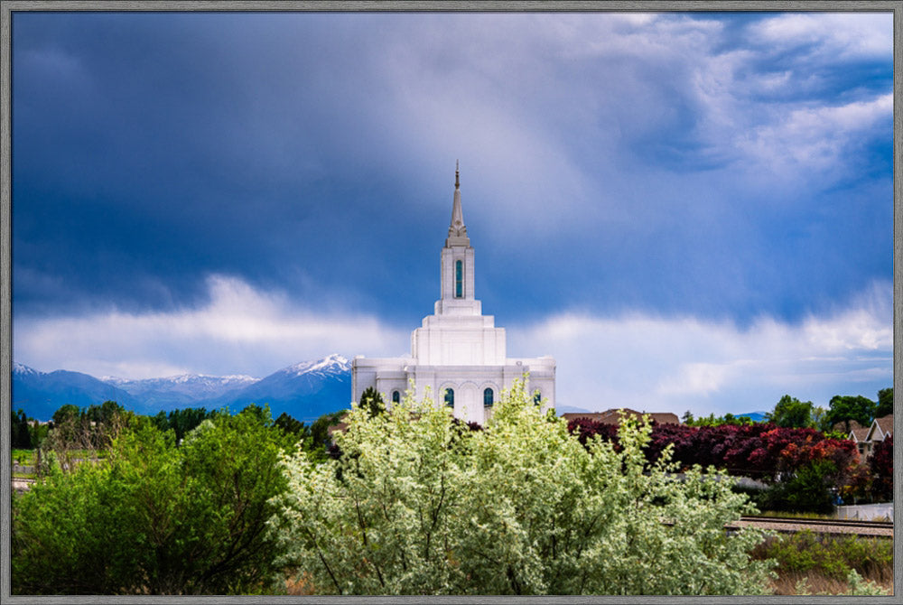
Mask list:
[[[330,593],[738,594],[765,590],[751,508],[699,467],[647,464],[648,426],[585,445],[517,383],[483,430],[408,394],[354,406],[319,463],[284,456],[271,520],[298,582]]]

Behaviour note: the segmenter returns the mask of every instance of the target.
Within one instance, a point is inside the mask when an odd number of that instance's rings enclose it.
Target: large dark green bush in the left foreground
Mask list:
[[[207,419],[181,446],[174,431],[135,422],[105,461],[51,465],[14,498],[13,591],[258,591],[276,571],[265,521],[292,442],[250,412]]]

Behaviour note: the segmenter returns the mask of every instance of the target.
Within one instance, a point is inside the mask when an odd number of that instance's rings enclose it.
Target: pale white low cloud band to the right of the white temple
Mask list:
[[[850,306],[789,323],[562,313],[508,330],[508,349],[551,354],[561,404],[683,414],[771,409],[791,394],[816,405],[834,395],[874,398],[891,386],[890,284]],[[524,351],[524,352],[520,352]]]

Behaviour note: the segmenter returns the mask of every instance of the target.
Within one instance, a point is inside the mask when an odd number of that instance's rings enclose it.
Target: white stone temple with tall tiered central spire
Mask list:
[[[461,186],[455,167],[452,224],[442,248],[441,298],[433,315],[411,333],[411,356],[364,358],[352,362],[354,400],[373,386],[391,405],[414,381],[414,396],[431,392],[433,401],[453,408],[456,418],[484,423],[503,388],[528,373],[527,390],[545,408],[555,405],[555,360],[507,358],[505,329],[482,314],[473,291],[473,248],[461,212]]]

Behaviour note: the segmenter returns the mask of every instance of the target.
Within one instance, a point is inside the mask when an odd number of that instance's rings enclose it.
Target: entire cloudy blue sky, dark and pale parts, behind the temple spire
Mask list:
[[[396,357],[455,163],[476,297],[559,405],[892,384],[890,13],[19,13],[13,357]],[[350,394],[349,394],[350,397]]]

